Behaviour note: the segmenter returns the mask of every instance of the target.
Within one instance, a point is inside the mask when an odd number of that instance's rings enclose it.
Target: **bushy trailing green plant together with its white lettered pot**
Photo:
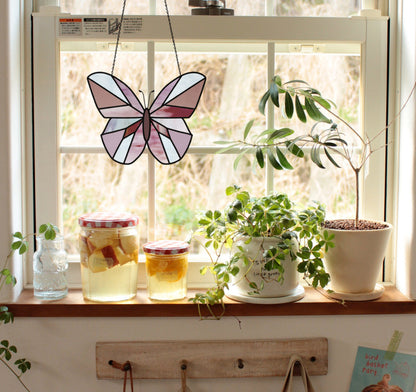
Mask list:
[[[210,306],[224,295],[253,303],[282,303],[303,297],[298,272],[313,287],[325,287],[329,275],[322,255],[333,244],[321,230],[325,211],[319,204],[298,209],[285,194],[253,197],[234,185],[223,211],[206,211],[194,238],[211,257],[215,286],[191,300]],[[214,313],[211,313],[213,316]]]

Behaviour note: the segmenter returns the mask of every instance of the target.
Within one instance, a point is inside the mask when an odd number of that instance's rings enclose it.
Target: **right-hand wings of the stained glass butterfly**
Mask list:
[[[147,144],[151,154],[168,165],[183,158],[192,140],[184,118],[198,106],[206,78],[188,72],[168,83],[153,101],[150,109]]]

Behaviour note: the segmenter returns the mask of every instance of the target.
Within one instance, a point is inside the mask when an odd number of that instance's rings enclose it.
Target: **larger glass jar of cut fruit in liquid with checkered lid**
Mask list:
[[[112,302],[135,297],[138,218],[128,213],[95,212],[81,216],[78,222],[84,298]]]

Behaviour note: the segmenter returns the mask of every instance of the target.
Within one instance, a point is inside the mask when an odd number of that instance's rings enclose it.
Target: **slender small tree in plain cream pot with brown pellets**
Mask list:
[[[414,89],[415,86],[411,94]],[[378,298],[383,288],[376,285],[376,282],[392,226],[387,222],[374,222],[360,218],[359,184],[362,169],[378,149],[374,147],[375,139],[389,125],[372,139],[362,136],[333,110],[334,104],[330,100],[323,98],[317,89],[302,80],[283,83],[280,76],[275,76],[270,88],[260,100],[261,113],[264,114],[265,105],[269,101],[277,107],[282,106],[282,110],[289,119],[295,114],[304,123],[308,118],[312,119],[315,123],[310,132],[293,137],[292,129],[282,128],[250,135],[252,122],[249,122],[243,139],[226,142],[229,144],[226,149],[236,146],[245,147],[238,158],[254,150],[257,164],[260,167],[263,168],[265,160],[268,159],[271,166],[277,170],[292,168],[285,151],[304,157],[305,147],[310,148],[312,162],[321,169],[325,169],[322,157],[335,167],[340,167],[339,159],[347,162],[355,176],[355,218],[323,223],[323,228],[330,233],[331,238],[334,237],[335,244],[325,254],[325,267],[331,276],[329,295],[342,300]],[[339,124],[343,125],[342,131]],[[249,135],[252,137],[249,138]],[[351,140],[355,140],[361,148],[351,148]]]

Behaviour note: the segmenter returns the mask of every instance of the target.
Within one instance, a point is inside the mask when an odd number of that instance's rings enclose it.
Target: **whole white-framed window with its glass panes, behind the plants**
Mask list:
[[[64,9],[71,7],[66,4]],[[268,1],[260,8],[269,12],[277,7],[273,4]],[[231,7],[231,2],[227,5]],[[236,2],[238,6],[241,2]],[[159,13],[154,2],[149,10]],[[91,72],[111,71],[115,37],[88,29],[85,18],[105,25],[107,17],[73,13],[33,18],[35,219],[58,222],[74,261],[77,218],[82,213],[113,208],[138,214],[141,243],[184,238],[199,210],[226,202],[224,189],[232,183],[257,194],[283,191],[299,201],[325,196],[329,216],[352,215],[353,179],[347,171],[319,172],[308,161],[296,162],[293,172],[253,170],[244,161],[233,170],[233,153],[215,154],[221,147],[214,142],[238,138],[251,118],[256,118],[259,129],[284,124],[277,113],[265,118],[257,111],[267,81],[277,73],[325,86],[324,95],[371,137],[384,127],[386,117],[386,18],[172,15],[182,72],[195,70],[207,76],[199,107],[187,120],[194,135],[191,147],[176,165],[156,164],[146,154],[131,166],[120,166],[100,144],[106,120],[96,110],[86,83]],[[148,100],[147,91],[159,91],[178,71],[166,16],[131,20],[138,27],[121,38],[115,75],[137,94],[143,90]],[[301,129],[300,124],[291,126]],[[383,154],[373,158],[362,179],[363,211],[379,220],[385,213],[384,161]],[[75,283],[78,266],[71,267],[70,281]],[[197,271],[191,273],[191,284],[193,279],[200,284]]]

